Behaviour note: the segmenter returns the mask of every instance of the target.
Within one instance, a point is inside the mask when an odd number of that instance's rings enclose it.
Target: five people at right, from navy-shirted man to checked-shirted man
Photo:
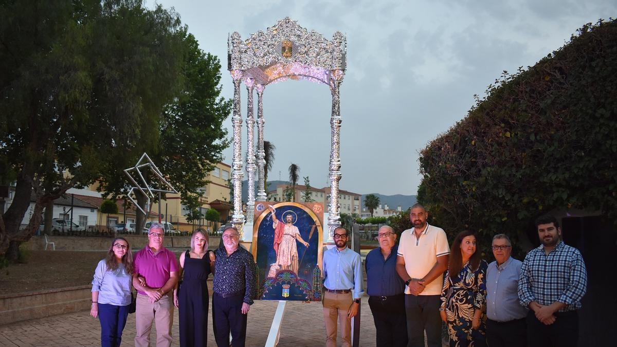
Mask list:
[[[505,234],[492,240],[487,264],[476,234],[458,233],[449,247],[444,230],[429,225],[420,204],[413,228],[381,227],[379,248],[366,256],[368,303],[378,346],[576,346],[587,272],[581,253],[561,241],[555,217],[536,220],[541,241],[524,261],[511,257]],[[396,253],[395,257],[393,254]],[[406,329],[405,329],[406,327]]]

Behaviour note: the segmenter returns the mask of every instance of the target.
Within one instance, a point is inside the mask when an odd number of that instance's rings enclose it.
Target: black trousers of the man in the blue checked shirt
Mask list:
[[[578,312],[555,312],[555,322],[545,325],[534,311],[527,314],[527,342],[529,347],[578,346]]]

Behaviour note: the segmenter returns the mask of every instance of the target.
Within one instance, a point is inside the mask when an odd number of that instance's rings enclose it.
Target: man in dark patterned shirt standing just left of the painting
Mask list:
[[[212,325],[217,346],[244,346],[246,319],[255,292],[255,262],[246,249],[239,246],[238,230],[223,232],[224,248],[215,252],[212,290]]]

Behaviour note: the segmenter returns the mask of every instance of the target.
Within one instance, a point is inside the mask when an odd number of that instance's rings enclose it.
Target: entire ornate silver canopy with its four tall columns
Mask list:
[[[330,196],[328,201],[328,228],[330,235],[341,225],[339,217],[339,180],[341,159],[339,156],[341,138],[341,107],[339,88],[346,70],[347,40],[336,31],[332,40],[327,40],[316,31],[300,27],[296,21],[286,17],[273,27],[258,31],[242,40],[238,32],[228,38],[228,70],[234,81],[233,117],[233,181],[234,213],[232,224],[244,238],[244,214],[242,214],[242,115],[240,85],[246,85],[247,99],[247,152],[246,172],[248,181],[247,224],[253,222],[255,206],[255,170],[259,175],[257,201],[265,201],[263,167],[263,119],[262,96],[265,86],[283,82],[289,78],[304,79],[328,85],[332,93],[331,151],[329,165]],[[253,93],[257,90],[257,120],[253,116]],[[254,150],[254,128],[257,123],[257,161]]]

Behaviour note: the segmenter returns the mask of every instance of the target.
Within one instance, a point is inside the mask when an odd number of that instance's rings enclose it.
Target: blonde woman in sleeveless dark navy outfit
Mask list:
[[[214,270],[214,252],[208,251],[208,233],[193,232],[191,249],[180,254],[180,288],[173,290],[173,303],[180,317],[180,346],[208,344],[208,276]],[[182,278],[182,277],[181,277]]]

